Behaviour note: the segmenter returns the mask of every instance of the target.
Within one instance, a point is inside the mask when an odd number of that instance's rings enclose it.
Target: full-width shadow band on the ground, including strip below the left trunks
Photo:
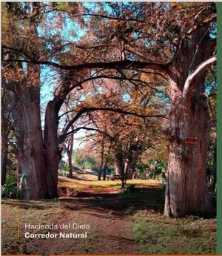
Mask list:
[[[211,217],[216,215],[215,194],[210,194],[214,208]],[[55,202],[59,202],[61,209],[70,209],[79,211],[87,209],[96,212],[110,212],[112,214],[131,215],[139,210],[154,210],[164,213],[164,189],[158,187],[136,188],[135,191],[127,190],[121,193],[101,193],[98,191],[80,191],[75,197],[60,197]],[[52,200],[24,201],[24,200],[3,200],[2,203],[10,206],[16,206],[20,209],[49,209],[54,206],[50,203]]]

